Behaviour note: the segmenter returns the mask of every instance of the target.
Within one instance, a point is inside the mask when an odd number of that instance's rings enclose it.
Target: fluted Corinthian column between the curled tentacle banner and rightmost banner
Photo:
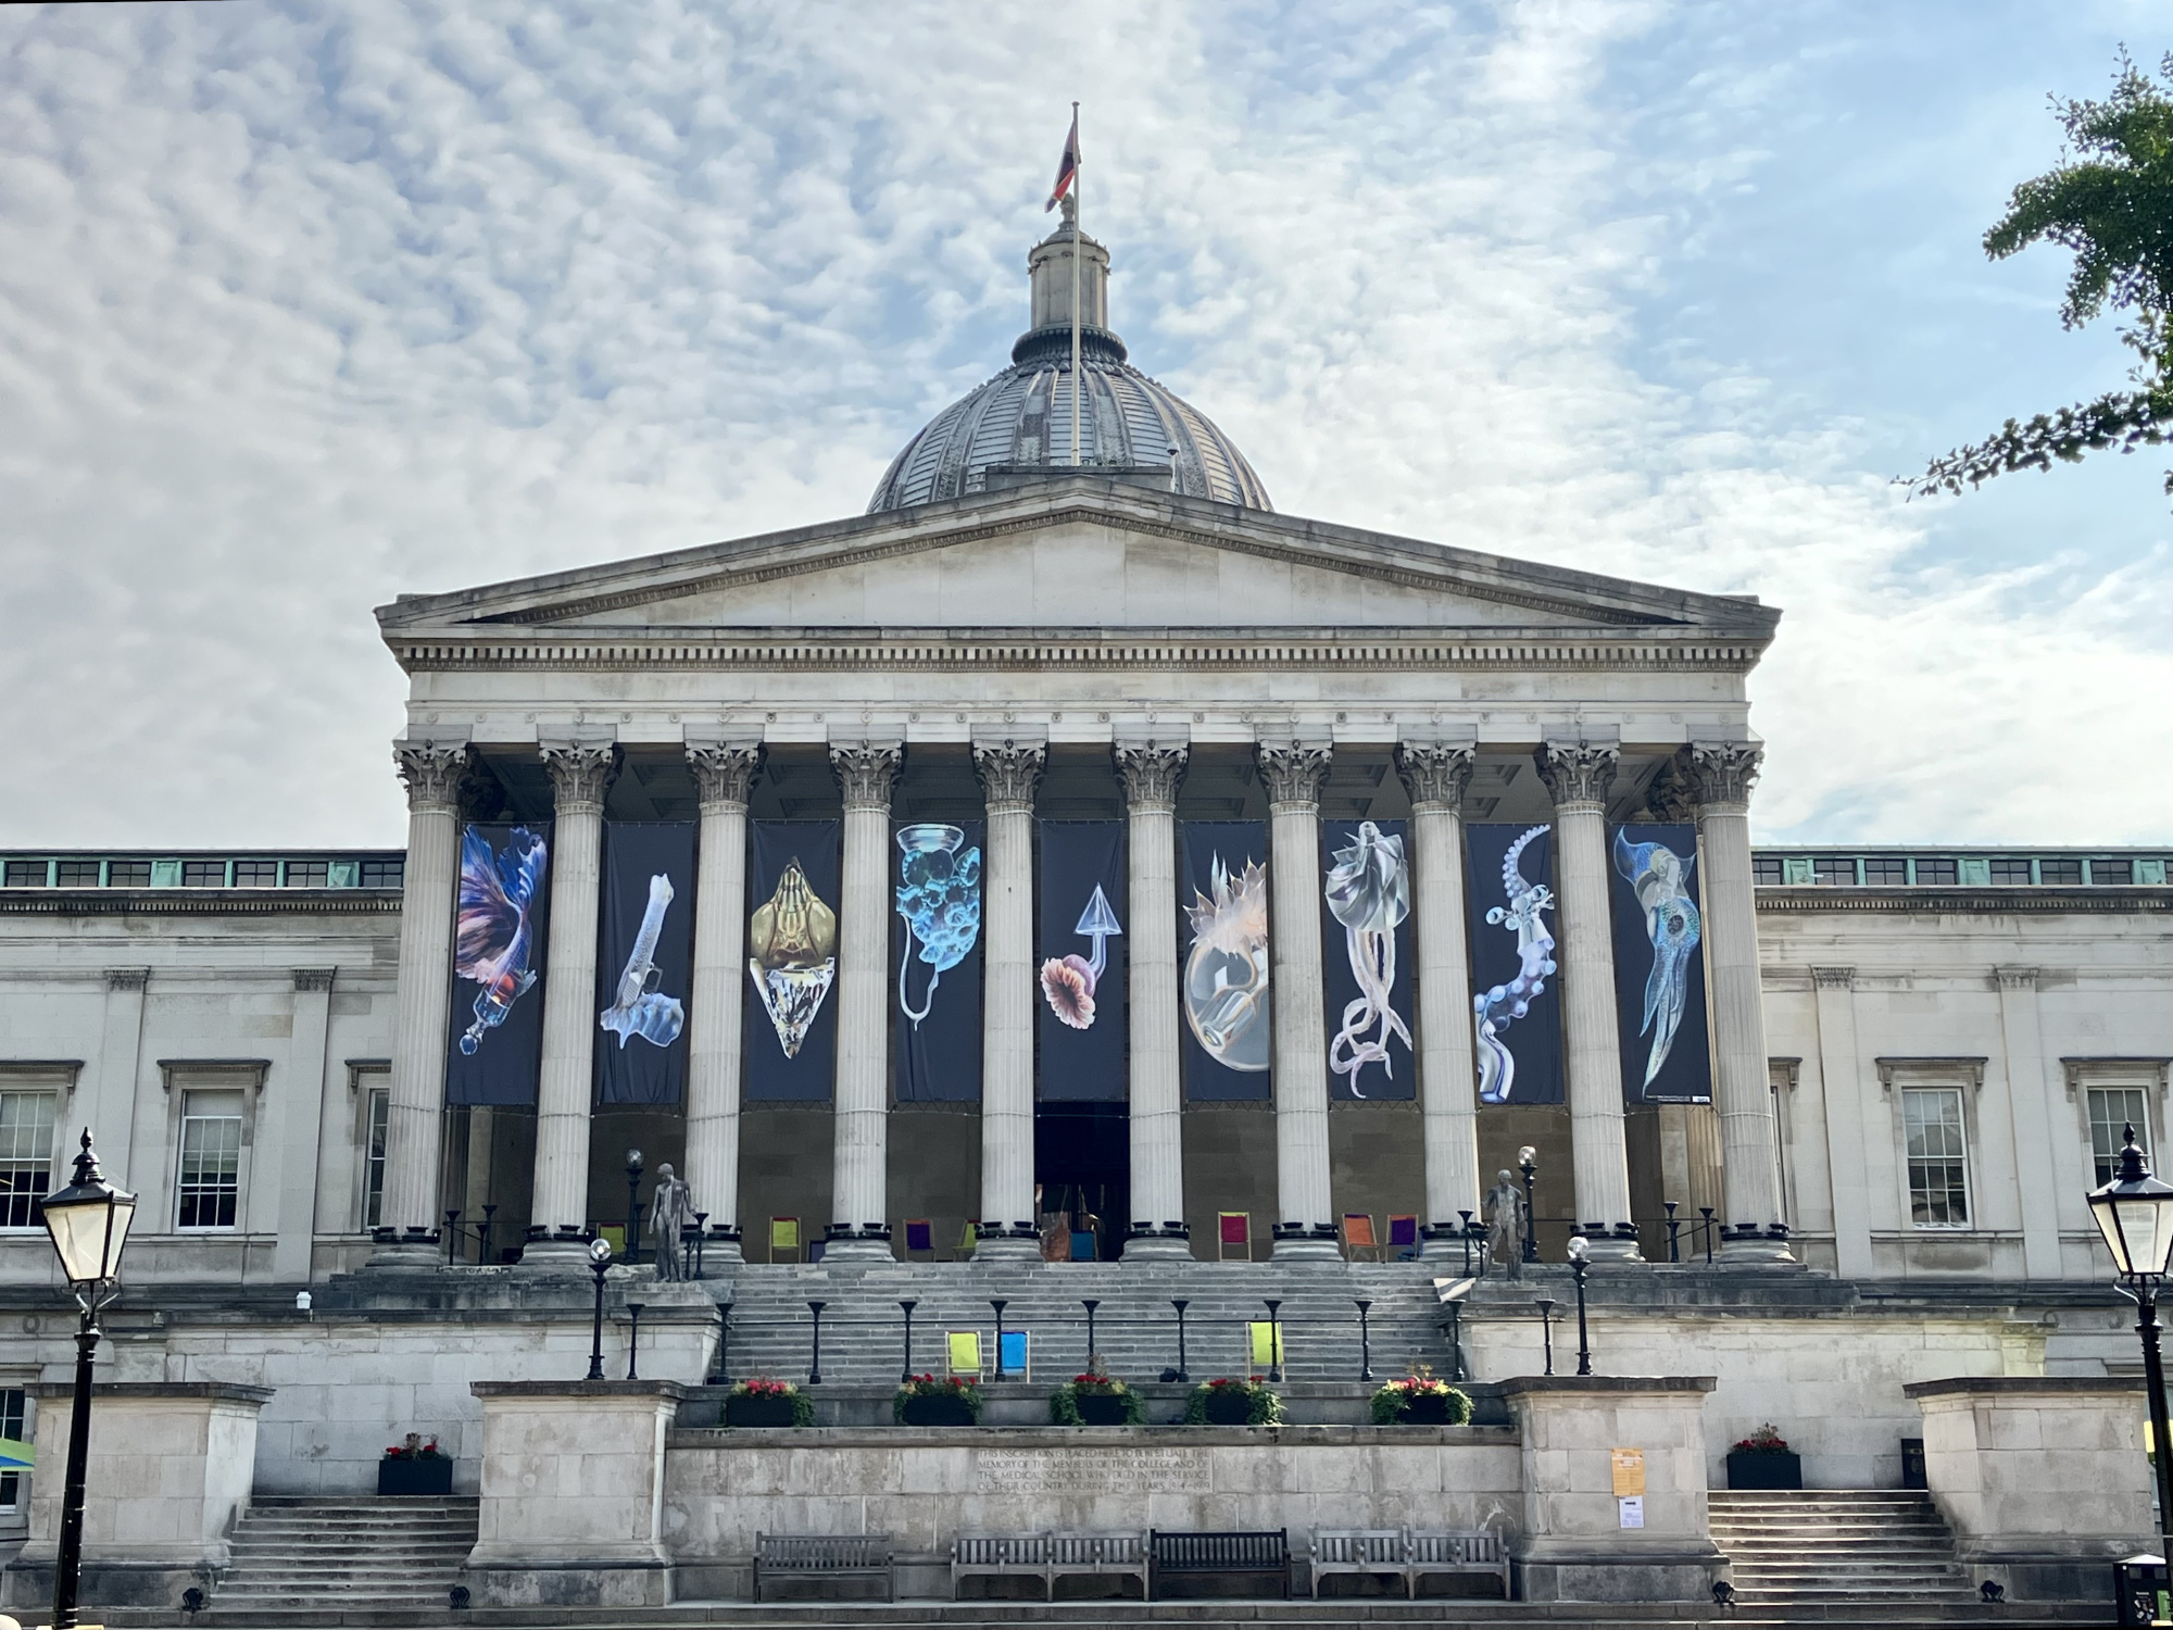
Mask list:
[[[1623,1137],[1621,1032],[1615,1024],[1615,935],[1608,924],[1608,787],[1615,748],[1547,743],[1538,776],[1554,795],[1560,885],[1562,1006],[1569,1019],[1569,1150],[1578,1228],[1593,1256],[1634,1261],[1630,1148]]]

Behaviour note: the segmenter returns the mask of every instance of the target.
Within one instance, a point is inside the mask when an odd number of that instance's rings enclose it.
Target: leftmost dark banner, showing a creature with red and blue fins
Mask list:
[[[461,828],[445,1102],[524,1108],[543,1069],[550,822]]]

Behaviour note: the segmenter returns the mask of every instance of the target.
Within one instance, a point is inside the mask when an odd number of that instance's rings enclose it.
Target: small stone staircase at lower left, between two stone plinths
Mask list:
[[[474,1500],[256,1495],[211,1610],[443,1613],[474,1547]]]

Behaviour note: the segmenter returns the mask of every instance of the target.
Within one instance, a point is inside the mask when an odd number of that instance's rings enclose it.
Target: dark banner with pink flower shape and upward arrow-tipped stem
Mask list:
[[[1043,1102],[1126,1098],[1123,822],[1041,822]]]

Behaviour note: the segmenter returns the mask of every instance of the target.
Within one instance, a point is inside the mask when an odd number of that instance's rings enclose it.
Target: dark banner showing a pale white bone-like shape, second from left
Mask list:
[[[595,1102],[678,1104],[693,995],[693,822],[604,822],[595,926]]]

